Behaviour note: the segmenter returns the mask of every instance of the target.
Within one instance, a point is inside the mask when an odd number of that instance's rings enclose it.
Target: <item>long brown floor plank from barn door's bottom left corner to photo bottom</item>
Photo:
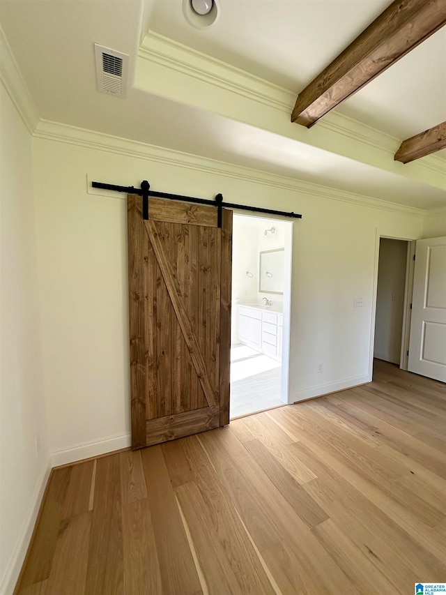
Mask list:
[[[141,458],[163,591],[169,595],[192,595],[201,590],[201,585],[161,447],[144,449]]]

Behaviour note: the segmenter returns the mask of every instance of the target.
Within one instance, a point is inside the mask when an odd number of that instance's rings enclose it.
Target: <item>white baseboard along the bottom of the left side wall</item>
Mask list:
[[[50,461],[47,461],[47,465],[44,465],[42,472],[36,482],[36,489],[34,490],[33,497],[31,498],[31,504],[28,509],[28,513],[24,519],[22,529],[17,541],[15,548],[10,557],[6,572],[0,581],[0,595],[13,595],[17,578],[19,578],[20,569],[22,568],[23,561],[25,559],[26,550],[28,549],[31,536],[33,534],[34,525],[36,525],[37,515],[40,509],[40,503],[43,499],[43,494],[47,486],[49,473],[51,472]]]

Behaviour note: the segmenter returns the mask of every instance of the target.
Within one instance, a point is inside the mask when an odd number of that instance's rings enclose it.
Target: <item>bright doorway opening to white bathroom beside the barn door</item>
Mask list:
[[[233,216],[231,419],[288,400],[292,225]]]

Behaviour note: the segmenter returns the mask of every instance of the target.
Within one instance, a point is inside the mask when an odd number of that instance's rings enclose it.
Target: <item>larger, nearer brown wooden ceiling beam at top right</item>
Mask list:
[[[395,0],[299,93],[291,121],[310,128],[444,24],[445,0]]]

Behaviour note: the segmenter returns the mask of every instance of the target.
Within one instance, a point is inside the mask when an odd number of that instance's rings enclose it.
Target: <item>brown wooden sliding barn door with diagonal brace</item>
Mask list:
[[[229,423],[232,211],[128,196],[132,447]]]

